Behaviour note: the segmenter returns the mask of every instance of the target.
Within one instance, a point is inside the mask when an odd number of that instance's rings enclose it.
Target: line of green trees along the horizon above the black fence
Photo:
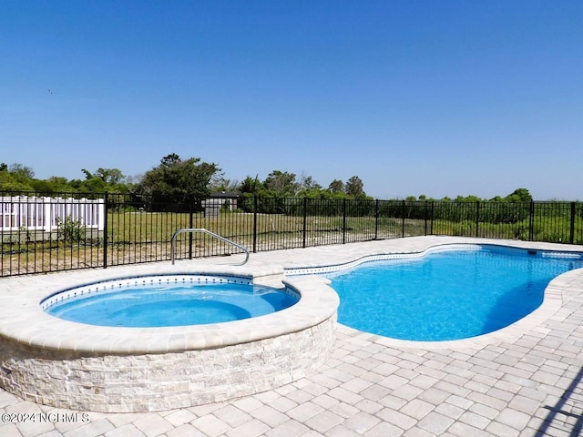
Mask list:
[[[334,179],[324,188],[312,176],[272,170],[260,180],[247,176],[241,182],[225,178],[215,163],[201,161],[200,158],[180,158],[171,153],[161,158],[158,166],[151,168],[140,177],[128,178],[118,168],[97,168],[89,171],[82,168],[84,179],[67,179],[52,176],[46,179],[35,178],[33,168],[15,163],[8,166],[0,163],[0,193],[25,194],[42,193],[103,193],[105,191],[121,194],[149,196],[155,201],[188,203],[208,198],[213,192],[233,192],[240,196],[260,196],[278,198],[351,198],[372,200],[364,191],[363,180],[353,176],[343,182]],[[456,198],[427,198],[409,196],[405,201],[445,201],[445,202],[530,202],[533,200],[527,188],[517,188],[506,197],[479,198],[461,196]]]

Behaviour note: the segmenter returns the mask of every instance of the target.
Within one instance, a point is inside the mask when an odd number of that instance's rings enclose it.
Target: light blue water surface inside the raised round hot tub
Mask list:
[[[298,299],[269,287],[235,283],[124,287],[46,309],[65,320],[101,326],[162,327],[248,319],[291,307]]]

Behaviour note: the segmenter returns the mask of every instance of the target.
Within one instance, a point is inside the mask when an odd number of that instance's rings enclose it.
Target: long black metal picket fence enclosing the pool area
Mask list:
[[[580,202],[206,200],[156,204],[111,193],[2,196],[0,276],[169,260],[172,235],[185,228],[208,229],[253,252],[421,235],[583,244]],[[179,234],[176,242],[176,259],[243,257],[206,234]]]

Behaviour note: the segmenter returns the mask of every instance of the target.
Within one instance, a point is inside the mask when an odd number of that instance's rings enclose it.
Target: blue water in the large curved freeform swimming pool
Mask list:
[[[459,340],[504,328],[536,310],[548,282],[583,268],[581,256],[448,250],[368,262],[326,275],[340,296],[338,320],[401,340]]]

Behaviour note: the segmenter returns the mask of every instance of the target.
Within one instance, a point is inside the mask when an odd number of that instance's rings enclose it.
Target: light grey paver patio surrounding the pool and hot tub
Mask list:
[[[422,237],[262,252],[252,254],[250,264],[318,266],[367,253],[459,242],[583,251],[581,246]],[[0,280],[0,287],[6,283]],[[412,343],[339,325],[336,349],[317,371],[234,401],[165,412],[76,415],[0,391],[0,436],[580,435],[583,269],[554,284],[560,290],[558,306],[478,340]],[[27,421],[22,420],[25,415]]]

